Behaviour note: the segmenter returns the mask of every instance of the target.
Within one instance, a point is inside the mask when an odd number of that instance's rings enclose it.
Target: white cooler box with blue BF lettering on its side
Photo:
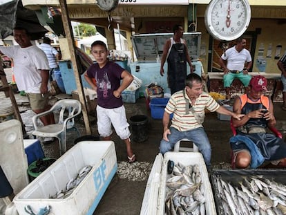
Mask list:
[[[86,165],[93,168],[70,196],[64,199],[49,198],[60,190],[66,190],[68,181],[75,178],[79,170]],[[26,215],[26,205],[35,213],[50,205],[50,215],[93,214],[116,171],[114,142],[78,142],[17,194],[14,203],[20,215]]]

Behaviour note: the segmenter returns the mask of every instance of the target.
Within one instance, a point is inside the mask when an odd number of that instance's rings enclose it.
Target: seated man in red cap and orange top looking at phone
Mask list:
[[[256,75],[249,82],[250,91],[237,97],[233,112],[245,114],[240,120],[232,118],[237,135],[230,139],[234,162],[237,168],[256,168],[264,161],[276,167],[286,167],[286,144],[267,127],[275,127],[274,106],[267,91],[267,80]]]

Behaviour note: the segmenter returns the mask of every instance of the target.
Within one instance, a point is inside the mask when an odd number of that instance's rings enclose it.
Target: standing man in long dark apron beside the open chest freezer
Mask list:
[[[184,30],[181,25],[173,27],[174,35],[166,40],[161,60],[160,75],[164,75],[164,63],[168,62],[168,85],[171,94],[184,89],[187,77],[187,62],[193,73],[191,58],[189,57],[186,41],[182,39]]]

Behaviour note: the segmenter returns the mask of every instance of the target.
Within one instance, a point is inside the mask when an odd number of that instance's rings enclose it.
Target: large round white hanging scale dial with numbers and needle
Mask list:
[[[231,41],[247,30],[250,17],[247,0],[212,0],[204,14],[204,23],[215,39]]]

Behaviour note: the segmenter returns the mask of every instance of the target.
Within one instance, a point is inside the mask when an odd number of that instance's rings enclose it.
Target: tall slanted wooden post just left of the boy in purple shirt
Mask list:
[[[75,54],[75,41],[73,37],[73,30],[70,24],[70,18],[68,17],[68,7],[66,0],[59,0],[61,6],[61,21],[64,24],[64,32],[66,33],[66,39],[68,39],[68,48],[70,50],[70,60],[73,64],[73,73],[75,75],[75,82],[77,84],[77,92],[79,93],[79,101],[82,103],[82,115],[84,117],[84,124],[86,127],[86,134],[91,134],[90,124],[88,120],[88,112],[86,109],[86,100],[84,98],[84,89],[82,88],[82,80],[78,70],[78,62]]]

